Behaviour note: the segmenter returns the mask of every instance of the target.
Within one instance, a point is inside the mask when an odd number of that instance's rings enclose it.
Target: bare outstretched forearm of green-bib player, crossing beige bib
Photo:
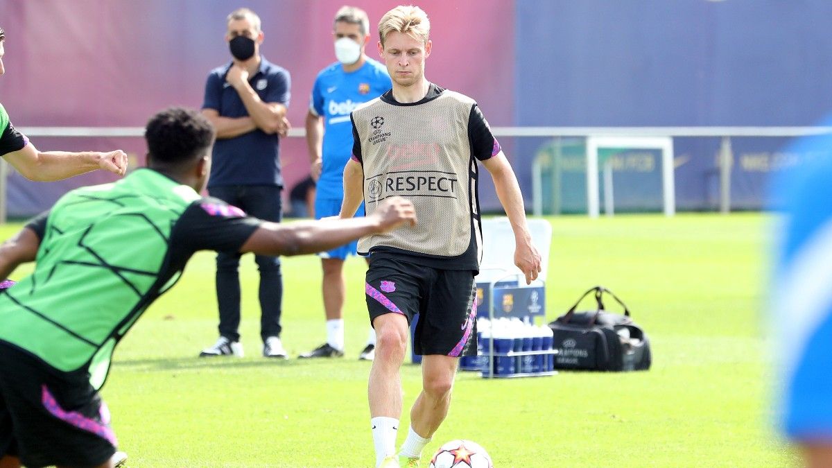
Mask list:
[[[416,224],[414,206],[402,197],[392,197],[369,217],[290,224],[265,222],[251,234],[240,251],[270,256],[327,251],[361,236],[391,231],[405,223]]]

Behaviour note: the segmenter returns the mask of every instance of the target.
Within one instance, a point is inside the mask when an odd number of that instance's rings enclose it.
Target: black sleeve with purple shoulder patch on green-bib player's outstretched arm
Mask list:
[[[240,251],[263,222],[217,198],[191,203],[171,232],[171,249]]]

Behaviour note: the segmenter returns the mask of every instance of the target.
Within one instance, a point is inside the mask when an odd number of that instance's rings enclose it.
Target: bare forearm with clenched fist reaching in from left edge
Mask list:
[[[85,172],[103,169],[123,176],[127,171],[127,155],[121,150],[111,152],[40,152],[29,142],[25,147],[3,155],[23,177],[37,182],[58,181]]]

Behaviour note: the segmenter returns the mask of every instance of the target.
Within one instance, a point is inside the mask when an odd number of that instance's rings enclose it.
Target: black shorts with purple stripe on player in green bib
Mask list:
[[[115,452],[109,411],[86,372],[62,374],[0,343],[0,458],[29,468],[99,466]]]

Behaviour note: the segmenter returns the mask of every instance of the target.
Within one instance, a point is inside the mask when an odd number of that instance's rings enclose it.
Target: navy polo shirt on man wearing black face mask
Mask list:
[[[208,74],[203,109],[214,109],[220,117],[248,117],[240,94],[225,82],[233,62]],[[283,67],[260,57],[260,69],[250,77],[251,87],[263,102],[289,106],[290,77]],[[233,138],[217,139],[208,187],[229,185],[270,185],[283,187],[280,176],[280,138],[259,128]]]

